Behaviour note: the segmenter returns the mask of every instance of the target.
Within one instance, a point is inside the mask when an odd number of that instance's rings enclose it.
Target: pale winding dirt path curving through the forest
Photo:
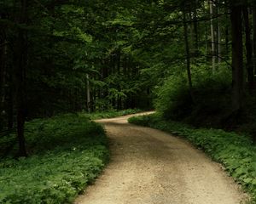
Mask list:
[[[104,119],[112,160],[75,203],[239,204],[245,195],[220,165],[168,133]]]

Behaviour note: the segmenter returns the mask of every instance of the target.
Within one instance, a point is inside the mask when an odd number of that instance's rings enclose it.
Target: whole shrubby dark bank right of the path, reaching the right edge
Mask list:
[[[211,71],[201,71],[198,67],[192,79],[192,95],[185,73],[168,77],[156,89],[154,105],[161,116],[195,127],[235,131],[256,139],[256,98],[246,89],[242,108],[235,112],[232,110],[230,69],[222,67],[211,75]]]

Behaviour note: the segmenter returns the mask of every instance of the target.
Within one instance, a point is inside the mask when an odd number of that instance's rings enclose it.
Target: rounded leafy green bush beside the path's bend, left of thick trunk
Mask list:
[[[230,71],[212,75],[203,65],[193,67],[193,97],[185,73],[169,77],[157,89],[155,106],[166,119],[184,120],[208,126],[221,122],[230,106]]]

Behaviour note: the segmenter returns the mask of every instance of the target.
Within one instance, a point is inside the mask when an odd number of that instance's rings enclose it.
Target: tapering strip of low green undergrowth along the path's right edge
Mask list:
[[[256,147],[245,135],[227,133],[220,129],[195,128],[181,122],[164,120],[157,114],[131,117],[129,122],[189,139],[214,161],[221,162],[230,176],[252,195],[252,203],[256,203]]]

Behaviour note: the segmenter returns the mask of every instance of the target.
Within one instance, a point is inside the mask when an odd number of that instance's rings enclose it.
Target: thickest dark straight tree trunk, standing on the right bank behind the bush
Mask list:
[[[238,5],[231,6],[232,25],[232,111],[240,111],[244,95],[244,72],[242,66],[242,8]]]

